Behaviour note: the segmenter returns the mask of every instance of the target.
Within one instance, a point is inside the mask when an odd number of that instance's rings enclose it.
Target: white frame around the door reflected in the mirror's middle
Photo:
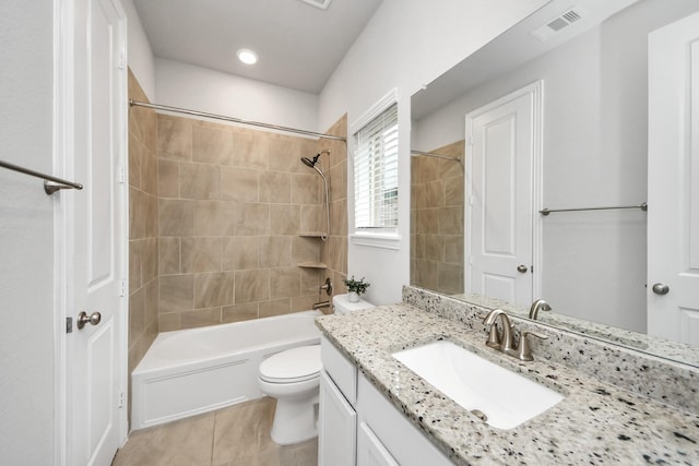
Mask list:
[[[465,179],[464,179],[464,292],[470,292],[471,286],[466,279],[466,271],[469,271],[469,261],[472,256],[472,243],[471,243],[471,226],[472,226],[472,213],[471,190],[473,188],[473,157],[471,156],[471,146],[473,141],[473,120],[486,113],[494,108],[497,108],[510,100],[514,100],[524,95],[532,95],[532,296],[534,299],[542,296],[542,244],[543,244],[543,218],[541,215],[536,215],[542,208],[543,200],[543,186],[544,186],[544,80],[535,81],[525,85],[517,91],[496,98],[488,104],[472,110],[465,116]]]

